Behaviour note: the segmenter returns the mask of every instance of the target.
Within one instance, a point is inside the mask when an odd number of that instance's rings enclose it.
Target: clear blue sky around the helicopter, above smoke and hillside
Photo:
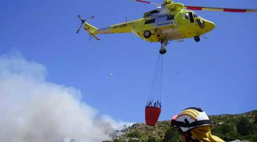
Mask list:
[[[151,1],[160,3],[162,1]],[[176,1],[186,6],[257,9],[249,1]],[[82,101],[116,120],[144,122],[160,43],[133,33],[98,35],[92,39],[77,17],[105,27],[141,18],[155,5],[132,1],[1,1],[0,55],[12,49],[27,61],[47,68],[47,82],[75,87]],[[200,42],[172,41],[163,55],[162,112],[159,120],[187,107],[208,114],[257,109],[257,13],[195,11],[215,23],[211,37]],[[113,62],[113,65],[111,64]],[[110,73],[113,75],[111,76]],[[178,74],[176,74],[178,73]]]

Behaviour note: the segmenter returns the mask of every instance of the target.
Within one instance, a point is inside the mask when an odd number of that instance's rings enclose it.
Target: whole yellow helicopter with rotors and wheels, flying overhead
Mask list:
[[[155,4],[140,0],[130,0],[146,4],[158,5],[155,10],[144,13],[140,19],[118,23],[112,26],[96,28],[85,22],[94,18],[91,16],[83,19],[80,15],[81,25],[84,23],[84,30],[90,35],[89,40],[93,37],[100,40],[97,34],[114,34],[114,33],[134,33],[138,37],[149,42],[160,42],[160,54],[167,52],[166,45],[172,40],[183,41],[186,38],[194,37],[196,42],[200,41],[200,36],[209,33],[215,28],[215,24],[209,20],[189,10],[207,10],[207,11],[224,11],[224,12],[256,12],[253,9],[227,9],[227,8],[210,8],[210,7],[194,7],[184,6],[181,3],[174,3],[165,0],[163,4]],[[189,10],[186,10],[189,9]],[[209,33],[210,36],[210,33]]]

